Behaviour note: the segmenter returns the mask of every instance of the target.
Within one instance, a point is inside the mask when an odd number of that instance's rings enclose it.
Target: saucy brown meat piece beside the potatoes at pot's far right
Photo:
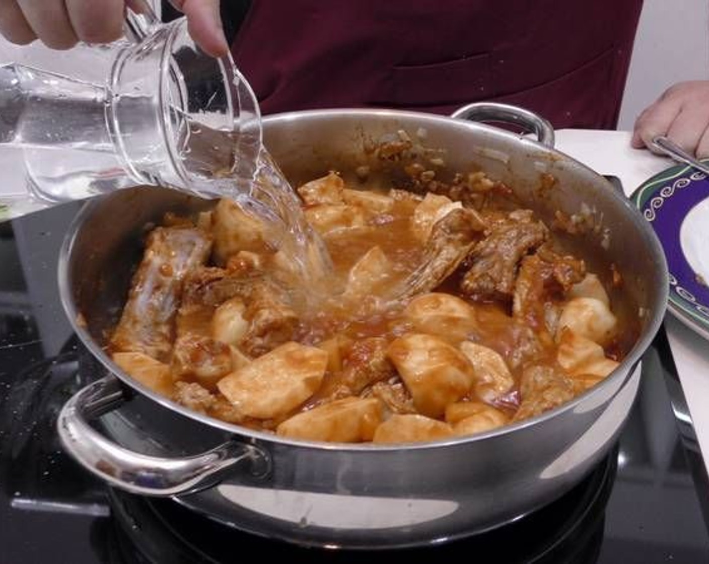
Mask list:
[[[584,280],[586,265],[544,247],[522,259],[515,281],[512,314],[534,329],[556,331],[559,309],[554,302]]]

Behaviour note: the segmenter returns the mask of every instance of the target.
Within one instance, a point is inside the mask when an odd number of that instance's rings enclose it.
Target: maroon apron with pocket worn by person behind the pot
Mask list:
[[[526,107],[615,128],[642,0],[254,0],[232,51],[264,114]]]

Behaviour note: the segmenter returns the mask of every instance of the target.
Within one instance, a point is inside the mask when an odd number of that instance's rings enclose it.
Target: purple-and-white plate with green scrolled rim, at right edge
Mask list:
[[[709,339],[709,179],[686,166],[654,175],[632,195],[669,269],[669,311]]]

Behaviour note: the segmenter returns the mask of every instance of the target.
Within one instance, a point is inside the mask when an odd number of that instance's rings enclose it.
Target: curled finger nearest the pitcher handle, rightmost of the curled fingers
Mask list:
[[[29,0],[37,3],[36,0]],[[46,1],[46,0],[43,0]],[[77,38],[86,43],[110,43],[123,35],[123,0],[65,0]]]

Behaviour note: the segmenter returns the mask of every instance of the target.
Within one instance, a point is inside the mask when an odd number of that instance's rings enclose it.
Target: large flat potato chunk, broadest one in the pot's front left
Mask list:
[[[320,387],[328,353],[285,343],[219,380],[219,391],[247,416],[286,416]]]

